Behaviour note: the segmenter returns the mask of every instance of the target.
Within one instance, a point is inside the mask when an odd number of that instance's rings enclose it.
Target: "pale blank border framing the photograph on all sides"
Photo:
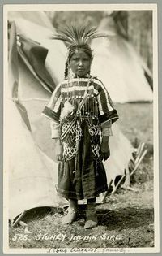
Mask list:
[[[160,248],[160,216],[159,216],[159,206],[160,206],[160,198],[159,198],[159,119],[158,119],[158,106],[160,106],[160,102],[158,100],[158,24],[157,24],[157,5],[154,3],[137,3],[137,4],[131,4],[131,3],[122,3],[122,4],[5,4],[3,6],[3,50],[4,50],[4,59],[3,59],[3,67],[4,67],[4,82],[6,84],[7,81],[7,59],[6,59],[6,51],[7,51],[7,38],[6,38],[6,20],[7,20],[7,12],[8,11],[79,11],[79,10],[106,10],[107,8],[112,10],[151,10],[153,11],[153,80],[154,80],[154,206],[155,206],[155,247],[154,248],[126,248],[124,251],[122,248],[112,248],[109,249],[109,253],[156,253],[159,251]],[[5,87],[5,85],[4,85]],[[3,88],[4,89],[4,88]],[[4,161],[4,159],[3,159]],[[5,161],[4,161],[5,163]],[[13,254],[44,254],[49,253],[48,249],[9,249],[7,248],[8,245],[8,226],[7,222],[7,176],[6,173],[3,173],[3,202],[4,202],[4,218],[3,218],[3,252],[4,253],[13,253]],[[97,251],[98,253],[102,251]],[[70,250],[69,250],[70,253]]]

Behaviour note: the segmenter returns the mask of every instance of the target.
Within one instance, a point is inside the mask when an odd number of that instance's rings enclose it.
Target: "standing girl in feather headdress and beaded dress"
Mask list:
[[[57,86],[43,114],[51,119],[52,138],[58,157],[58,192],[69,200],[63,223],[77,218],[77,202],[87,199],[84,228],[97,225],[96,197],[106,191],[102,161],[109,158],[111,124],[117,111],[102,82],[91,76],[89,42],[105,35],[95,28],[65,28],[54,39],[69,48],[65,80]],[[72,77],[70,73],[72,72]]]

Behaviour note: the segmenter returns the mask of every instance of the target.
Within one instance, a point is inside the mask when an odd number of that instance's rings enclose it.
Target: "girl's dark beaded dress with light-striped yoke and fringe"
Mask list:
[[[52,120],[63,145],[58,192],[67,199],[89,199],[106,191],[100,157],[103,127],[118,119],[102,82],[92,76],[64,80],[54,90],[43,115]]]

